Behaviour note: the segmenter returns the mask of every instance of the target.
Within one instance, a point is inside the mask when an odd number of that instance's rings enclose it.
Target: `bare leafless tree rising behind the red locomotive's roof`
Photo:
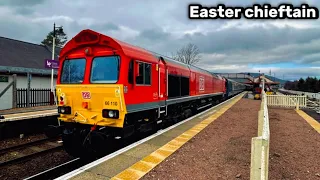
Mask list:
[[[197,45],[189,43],[176,53],[172,53],[172,58],[186,64],[195,64],[201,59],[200,50]]]

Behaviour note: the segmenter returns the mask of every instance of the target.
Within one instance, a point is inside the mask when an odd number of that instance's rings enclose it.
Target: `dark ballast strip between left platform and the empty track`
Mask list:
[[[46,138],[46,135],[44,134],[34,134],[34,135],[26,135],[21,139],[20,137],[5,139],[0,141],[0,149],[13,147],[20,144],[26,144],[26,143],[30,143],[30,142],[37,141],[40,139],[45,139],[45,138]]]

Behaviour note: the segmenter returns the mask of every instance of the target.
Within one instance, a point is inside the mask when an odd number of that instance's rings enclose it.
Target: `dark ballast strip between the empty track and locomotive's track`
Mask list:
[[[68,155],[64,150],[46,153],[30,161],[3,167],[0,170],[0,179],[11,180],[27,178],[72,159],[73,157]]]

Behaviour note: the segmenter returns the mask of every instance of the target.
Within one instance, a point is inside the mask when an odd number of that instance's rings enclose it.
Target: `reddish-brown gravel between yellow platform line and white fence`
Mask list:
[[[142,179],[249,179],[260,103],[241,99]]]

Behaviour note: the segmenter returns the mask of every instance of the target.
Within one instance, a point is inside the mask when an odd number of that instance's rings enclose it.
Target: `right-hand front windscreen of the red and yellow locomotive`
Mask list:
[[[119,56],[95,57],[92,60],[91,83],[116,83],[119,78]]]

